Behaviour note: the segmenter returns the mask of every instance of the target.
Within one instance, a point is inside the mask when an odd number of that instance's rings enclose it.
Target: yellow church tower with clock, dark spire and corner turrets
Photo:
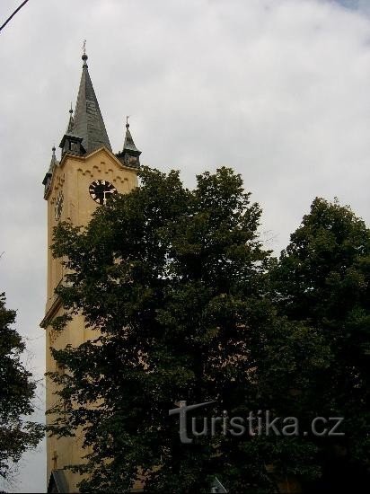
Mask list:
[[[66,133],[60,142],[61,156],[57,160],[53,147],[51,162],[42,184],[48,202],[48,287],[45,317],[41,327],[46,331],[46,371],[63,373],[51,357],[50,347],[78,346],[93,337],[85,328],[84,317],[76,316],[64,331],[51,328],[55,317],[63,313],[55,288],[62,282],[64,267],[53,259],[50,245],[57,222],[70,220],[74,225],[87,225],[96,207],[103,207],[111,194],[127,193],[137,187],[140,151],[134,144],[126,123],[126,137],[122,151],[113,154],[110,139],[101,116],[99,103],[83,55],[83,73],[75,112],[69,110]],[[46,401],[49,410],[56,401],[55,384],[47,378]],[[47,423],[52,421],[47,416]],[[48,492],[76,492],[81,477],[67,470],[66,465],[80,463],[86,451],[76,437],[47,438]]]

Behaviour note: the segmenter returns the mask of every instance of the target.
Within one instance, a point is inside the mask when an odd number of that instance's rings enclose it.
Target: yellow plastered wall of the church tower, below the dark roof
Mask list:
[[[71,344],[76,347],[84,341],[92,339],[92,331],[84,326],[84,317],[76,316],[68,323],[64,331],[56,333],[50,323],[55,317],[63,313],[63,307],[57,299],[54,291],[63,279],[63,267],[61,260],[53,259],[50,245],[53,242],[53,229],[57,221],[71,220],[74,225],[88,225],[93,212],[99,206],[89,193],[89,186],[93,181],[110,181],[119,193],[128,193],[137,187],[137,170],[125,167],[114,154],[105,147],[94,151],[92,154],[79,156],[65,154],[59,165],[53,172],[52,181],[48,189],[48,290],[46,314],[41,326],[46,331],[46,371],[63,372],[57,368],[57,363],[51,357],[50,347],[65,348]],[[55,206],[60,193],[63,194],[63,208],[60,218],[56,218]],[[47,377],[47,410],[55,403],[56,387]],[[47,424],[52,420],[47,415]],[[63,469],[66,465],[80,463],[81,458],[87,453],[81,447],[82,438],[48,437],[47,439],[47,474],[50,478],[52,470]],[[76,484],[81,480],[78,474],[65,471],[68,491],[76,492]]]

